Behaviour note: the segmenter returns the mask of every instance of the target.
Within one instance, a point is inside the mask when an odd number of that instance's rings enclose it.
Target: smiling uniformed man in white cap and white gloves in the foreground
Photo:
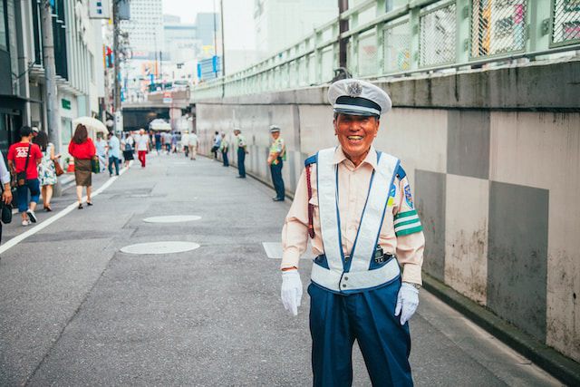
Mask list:
[[[400,161],[372,146],[391,100],[352,79],[333,83],[328,98],[339,146],[305,160],[282,230],[282,302],[297,314],[310,236],[314,386],[352,384],[354,340],[372,385],[410,386],[407,322],[419,305],[425,239]]]

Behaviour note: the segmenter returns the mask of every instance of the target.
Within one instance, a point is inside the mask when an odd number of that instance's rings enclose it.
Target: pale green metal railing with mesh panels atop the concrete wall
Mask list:
[[[339,33],[340,21],[349,29]],[[246,70],[196,86],[192,100],[333,80],[339,45],[359,78],[455,71],[580,50],[580,0],[367,0]]]

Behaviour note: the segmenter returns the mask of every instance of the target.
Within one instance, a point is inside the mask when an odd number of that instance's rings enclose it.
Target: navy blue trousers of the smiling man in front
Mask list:
[[[351,295],[308,286],[314,386],[353,384],[353,343],[361,348],[373,386],[412,386],[409,324],[395,314],[401,277]]]

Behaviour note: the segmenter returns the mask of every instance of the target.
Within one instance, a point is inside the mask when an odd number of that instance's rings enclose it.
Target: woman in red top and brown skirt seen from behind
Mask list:
[[[92,159],[97,150],[89,137],[86,126],[81,123],[74,130],[73,139],[69,143],[69,153],[74,158],[74,181],[76,183],[76,198],[79,209],[82,209],[82,187],[87,190],[87,206],[92,206]]]

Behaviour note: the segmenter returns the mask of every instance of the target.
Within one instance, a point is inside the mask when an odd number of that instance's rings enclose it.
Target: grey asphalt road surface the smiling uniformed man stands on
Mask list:
[[[290,203],[236,169],[150,156],[101,174],[92,208],[73,189],[38,228],[5,226],[0,247],[0,385],[285,385],[312,383],[308,296],[297,317],[279,301],[277,242]],[[50,217],[59,216],[52,224]],[[68,211],[68,212],[66,212]],[[143,218],[197,215],[156,224]],[[137,243],[189,241],[188,252],[131,255]],[[311,263],[302,264],[304,287]],[[421,291],[411,320],[417,385],[558,385],[526,358]],[[355,348],[354,384],[370,385]]]

